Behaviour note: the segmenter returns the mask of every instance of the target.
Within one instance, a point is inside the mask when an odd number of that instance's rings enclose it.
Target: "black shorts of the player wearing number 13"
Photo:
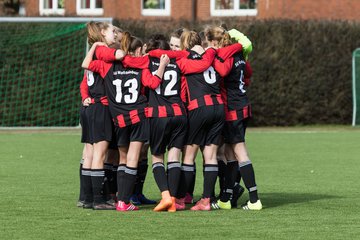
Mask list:
[[[141,120],[123,128],[115,126],[118,147],[127,147],[130,142],[147,142],[149,140],[149,119]]]

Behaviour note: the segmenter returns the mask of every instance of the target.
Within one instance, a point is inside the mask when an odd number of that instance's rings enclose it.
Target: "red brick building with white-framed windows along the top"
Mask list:
[[[1,16],[360,20],[360,0],[0,0]]]

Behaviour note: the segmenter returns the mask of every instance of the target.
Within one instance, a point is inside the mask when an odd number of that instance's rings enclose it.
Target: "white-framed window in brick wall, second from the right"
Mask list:
[[[141,0],[144,16],[170,16],[170,0]]]

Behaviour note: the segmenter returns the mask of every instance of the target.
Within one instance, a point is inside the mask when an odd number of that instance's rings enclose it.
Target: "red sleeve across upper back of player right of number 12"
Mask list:
[[[181,58],[177,60],[176,63],[183,74],[201,73],[211,66],[215,55],[216,50],[209,48],[205,51],[202,59]]]

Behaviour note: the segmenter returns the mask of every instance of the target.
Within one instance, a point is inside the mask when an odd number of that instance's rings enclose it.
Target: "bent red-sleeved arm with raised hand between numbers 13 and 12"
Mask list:
[[[156,89],[164,76],[165,67],[169,64],[170,59],[166,54],[160,57],[160,66],[156,70],[155,75],[152,75],[148,68],[144,69],[141,75],[141,82],[145,87]]]

